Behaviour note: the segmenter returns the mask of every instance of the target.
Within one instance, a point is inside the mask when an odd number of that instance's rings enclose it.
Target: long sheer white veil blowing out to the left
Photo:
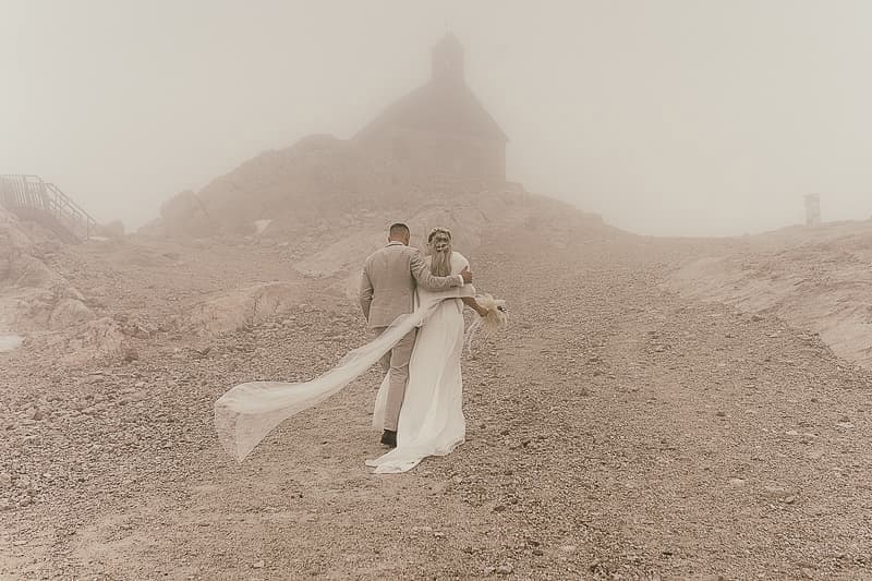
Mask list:
[[[215,402],[215,429],[221,446],[242,462],[284,420],[324,401],[365,373],[405,334],[420,327],[441,301],[463,296],[475,296],[472,285],[433,293],[413,313],[397,317],[378,338],[350,351],[335,367],[310,382],[250,382],[231,388]]]

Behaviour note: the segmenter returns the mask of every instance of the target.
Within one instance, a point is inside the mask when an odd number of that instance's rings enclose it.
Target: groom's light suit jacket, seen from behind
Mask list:
[[[370,328],[387,327],[400,315],[414,311],[415,283],[438,291],[462,287],[463,277],[433,276],[421,252],[391,242],[371,254],[363,265],[359,298]]]

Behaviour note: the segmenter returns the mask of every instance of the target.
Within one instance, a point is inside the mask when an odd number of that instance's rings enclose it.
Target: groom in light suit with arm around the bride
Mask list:
[[[464,268],[459,275],[433,276],[421,253],[409,246],[409,240],[408,226],[392,225],[388,232],[388,245],[371,254],[364,263],[360,289],[361,308],[370,329],[376,336],[385,332],[398,316],[414,311],[415,283],[436,291],[472,282],[469,268]],[[391,448],[397,446],[397,423],[409,380],[409,360],[412,358],[415,334],[416,330],[410,331],[382,358],[385,373],[390,371],[382,444]]]

